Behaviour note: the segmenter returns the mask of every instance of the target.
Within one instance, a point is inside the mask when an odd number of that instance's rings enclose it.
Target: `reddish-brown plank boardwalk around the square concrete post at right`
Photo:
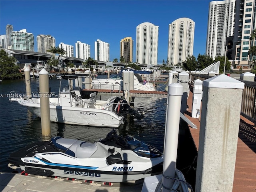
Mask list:
[[[200,118],[191,117],[192,96],[190,92],[187,102],[189,108],[184,115],[197,126],[197,129],[189,127],[198,150]],[[256,192],[256,128],[254,123],[243,116],[240,116],[233,192]]]

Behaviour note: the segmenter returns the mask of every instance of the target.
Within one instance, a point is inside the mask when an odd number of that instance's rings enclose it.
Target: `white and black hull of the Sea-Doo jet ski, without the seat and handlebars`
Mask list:
[[[65,140],[73,142],[73,140]],[[79,146],[83,144],[88,143],[78,143]],[[107,146],[108,151],[112,148],[100,141],[94,145],[90,144],[89,148],[97,147],[97,150],[100,150],[101,146]],[[106,152],[108,154],[102,157],[97,154],[97,151],[91,151],[89,158],[77,158],[77,155],[68,150],[57,149],[52,141],[38,142],[10,154],[8,161],[28,174],[98,182],[127,182],[162,173],[162,155],[154,158],[140,157],[133,150],[118,147],[115,147],[112,153],[108,151]],[[142,151],[140,150],[139,153]],[[76,152],[78,153],[78,150]],[[102,153],[104,152],[100,151],[99,154]]]

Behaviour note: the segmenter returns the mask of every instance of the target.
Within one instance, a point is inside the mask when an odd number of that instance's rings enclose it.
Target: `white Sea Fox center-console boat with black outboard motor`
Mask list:
[[[144,112],[130,108],[128,103],[116,96],[108,100],[96,100],[96,93],[91,93],[89,99],[82,99],[79,90],[73,90],[70,81],[84,78],[85,74],[59,74],[60,89],[58,95],[49,93],[50,120],[64,124],[77,124],[86,126],[119,127],[126,114],[141,119]],[[68,80],[69,88],[61,89],[62,79]],[[19,94],[11,94],[17,96]],[[27,107],[33,114],[41,117],[40,95],[33,94],[31,98],[26,96],[11,97],[10,101]]]

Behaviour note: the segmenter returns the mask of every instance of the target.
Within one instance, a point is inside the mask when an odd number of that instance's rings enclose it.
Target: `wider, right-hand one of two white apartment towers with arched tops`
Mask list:
[[[168,64],[182,64],[193,55],[195,22],[189,18],[179,18],[169,24]]]

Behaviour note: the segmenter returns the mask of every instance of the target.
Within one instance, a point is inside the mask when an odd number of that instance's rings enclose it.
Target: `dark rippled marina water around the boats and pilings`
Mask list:
[[[102,75],[102,78],[107,76]],[[98,76],[98,78],[100,78]],[[58,92],[59,80],[51,79],[51,92]],[[39,80],[31,80],[31,90],[37,91]],[[164,90],[158,88],[158,90]],[[6,94],[10,91],[24,92],[25,80],[4,80],[0,85],[0,163],[1,172],[11,172],[8,168],[7,158],[10,153],[23,148],[35,141],[42,140],[40,118],[36,117],[27,108],[17,102],[10,102]],[[164,145],[164,127],[166,114],[166,98],[137,97],[134,100],[134,108],[141,108],[147,116],[142,120],[129,119],[126,124],[118,128],[120,134],[130,134],[135,138],[152,144],[160,151]],[[52,137],[62,136],[96,142],[105,138],[111,128],[96,128],[88,126],[67,125],[51,122]]]

